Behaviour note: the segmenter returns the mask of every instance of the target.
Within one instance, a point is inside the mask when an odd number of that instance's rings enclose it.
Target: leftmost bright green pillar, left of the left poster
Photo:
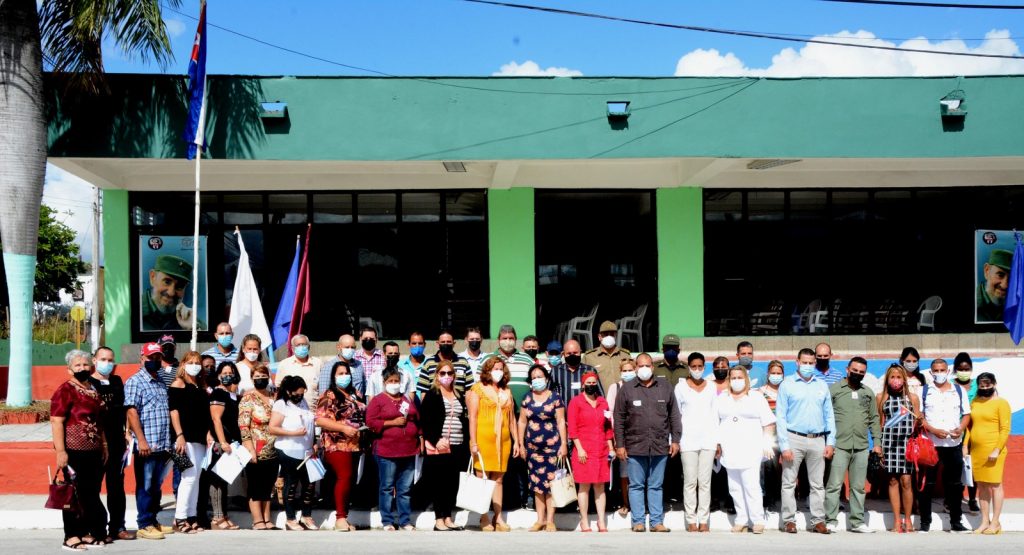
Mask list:
[[[114,352],[131,343],[129,217],[128,191],[103,190],[103,330]]]

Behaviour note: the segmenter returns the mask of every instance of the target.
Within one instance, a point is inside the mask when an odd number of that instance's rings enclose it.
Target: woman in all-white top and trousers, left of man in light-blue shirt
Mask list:
[[[729,370],[729,390],[715,398],[718,416],[718,449],[729,475],[729,494],[736,506],[732,531],[753,528],[764,533],[765,510],[761,499],[761,461],[771,446],[775,415],[759,391],[751,391],[751,379],[740,367]]]

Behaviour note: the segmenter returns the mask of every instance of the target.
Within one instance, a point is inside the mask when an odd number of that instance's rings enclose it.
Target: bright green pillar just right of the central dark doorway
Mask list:
[[[659,188],[657,301],[660,335],[703,337],[703,196],[700,187]]]

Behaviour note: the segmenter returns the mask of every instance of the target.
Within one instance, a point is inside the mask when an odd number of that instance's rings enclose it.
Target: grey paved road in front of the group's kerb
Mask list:
[[[43,553],[57,551],[62,540],[59,530],[4,530],[6,553]],[[301,541],[299,540],[301,538]],[[301,543],[299,543],[301,542]],[[298,544],[298,545],[297,545]],[[642,547],[641,547],[642,546]],[[163,541],[120,542],[101,550],[114,553],[217,553],[218,555],[253,553],[290,553],[297,547],[305,553],[629,553],[641,548],[649,553],[705,550],[720,553],[837,553],[912,552],[927,553],[1021,553],[1024,533],[998,537],[959,536],[948,532],[894,535],[812,533],[783,535],[769,531],[758,537],[727,531],[708,535],[686,532],[644,533],[617,531],[598,535],[581,532],[510,533],[464,532],[384,532],[379,530],[340,533],[334,531],[206,531],[197,536],[173,535]],[[100,551],[92,551],[99,553]]]

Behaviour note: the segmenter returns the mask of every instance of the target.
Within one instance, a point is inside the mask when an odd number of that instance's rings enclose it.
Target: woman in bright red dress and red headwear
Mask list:
[[[608,454],[611,453],[611,410],[600,395],[595,372],[583,375],[583,395],[569,402],[568,433],[572,440],[572,474],[580,485],[580,531],[590,531],[590,489],[594,488],[597,507],[597,531],[608,531],[604,519],[604,489],[608,482]]]

